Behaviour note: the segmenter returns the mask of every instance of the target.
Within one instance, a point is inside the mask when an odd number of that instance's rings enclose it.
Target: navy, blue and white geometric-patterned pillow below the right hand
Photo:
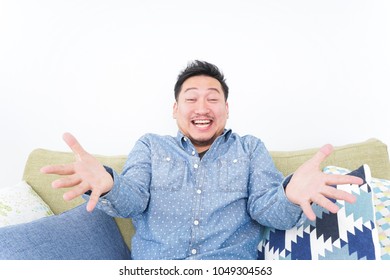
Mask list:
[[[362,185],[338,185],[353,193],[357,200],[350,204],[337,201],[336,214],[313,204],[316,220],[306,219],[290,230],[265,230],[259,244],[259,259],[278,260],[372,260],[380,258],[372,191],[367,184],[370,170],[363,165],[351,175],[364,180]]]

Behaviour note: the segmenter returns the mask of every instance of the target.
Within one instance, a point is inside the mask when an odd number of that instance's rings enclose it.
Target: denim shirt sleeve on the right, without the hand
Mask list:
[[[283,177],[264,144],[252,145],[248,211],[260,224],[276,229],[289,229],[298,223],[302,209],[288,200],[285,186],[291,176]]]

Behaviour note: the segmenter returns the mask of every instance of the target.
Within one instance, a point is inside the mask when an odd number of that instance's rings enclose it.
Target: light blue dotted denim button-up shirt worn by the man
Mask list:
[[[191,141],[147,134],[98,202],[131,217],[133,259],[256,259],[263,226],[287,229],[302,215],[264,144],[225,130],[200,160]]]

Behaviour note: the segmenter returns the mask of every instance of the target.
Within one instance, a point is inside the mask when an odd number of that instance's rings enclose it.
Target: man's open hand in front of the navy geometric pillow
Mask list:
[[[350,175],[325,174],[320,170],[320,164],[332,153],[331,145],[323,146],[311,159],[302,164],[292,176],[286,187],[287,198],[302,208],[306,217],[312,221],[316,215],[311,208],[311,203],[316,203],[336,213],[339,207],[331,199],[345,200],[353,203],[354,195],[338,190],[332,185],[362,184],[361,178]]]

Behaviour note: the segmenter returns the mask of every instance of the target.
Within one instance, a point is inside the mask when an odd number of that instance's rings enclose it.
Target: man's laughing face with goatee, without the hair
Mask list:
[[[184,81],[173,117],[198,152],[207,150],[225,128],[229,106],[217,79],[194,76]]]

